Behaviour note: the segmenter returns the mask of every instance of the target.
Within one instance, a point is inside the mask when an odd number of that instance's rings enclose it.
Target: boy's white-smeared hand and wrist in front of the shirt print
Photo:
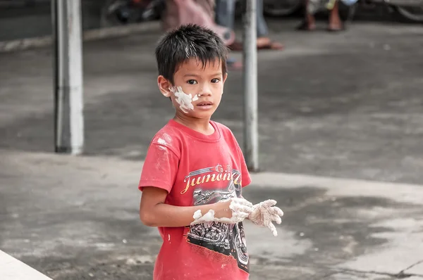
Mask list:
[[[225,224],[237,224],[252,213],[252,203],[244,198],[230,198],[225,201],[214,203],[214,209],[207,213],[197,210],[194,213],[194,222],[191,224],[200,224],[202,222],[223,222]]]

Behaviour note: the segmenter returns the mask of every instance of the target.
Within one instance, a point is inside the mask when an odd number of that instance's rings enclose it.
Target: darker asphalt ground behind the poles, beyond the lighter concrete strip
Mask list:
[[[271,22],[286,50],[259,53],[262,170],[423,184],[423,28],[357,23],[328,34],[294,32],[295,24]],[[155,82],[158,38],[85,44],[87,153],[141,160],[171,117]],[[50,49],[0,61],[0,147],[52,151]],[[229,74],[215,119],[242,144],[241,76]]]

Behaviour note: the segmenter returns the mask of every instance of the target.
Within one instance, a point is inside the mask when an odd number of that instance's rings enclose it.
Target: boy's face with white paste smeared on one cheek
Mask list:
[[[190,58],[178,67],[173,75],[174,86],[169,83],[168,91],[164,91],[166,85],[161,84],[163,79],[159,77],[158,82],[162,94],[171,97],[177,114],[209,119],[221,102],[226,76],[219,60],[203,65]]]

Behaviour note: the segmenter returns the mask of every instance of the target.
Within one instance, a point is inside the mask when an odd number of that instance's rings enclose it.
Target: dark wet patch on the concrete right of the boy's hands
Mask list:
[[[377,224],[392,219],[393,215],[396,219],[405,219],[413,213],[423,217],[419,205],[366,196],[330,197],[325,193],[324,189],[308,186],[293,189],[248,186],[243,195],[254,203],[269,198],[278,201],[285,212],[278,229],[293,231],[298,240],[309,239],[313,244],[292,262],[316,267],[337,265],[388,243],[377,234],[393,229]],[[269,262],[276,264],[278,260]]]

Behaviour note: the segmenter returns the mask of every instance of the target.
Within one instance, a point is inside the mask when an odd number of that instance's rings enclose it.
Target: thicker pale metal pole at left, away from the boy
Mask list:
[[[80,0],[51,0],[54,37],[54,146],[82,153],[82,27]]]

